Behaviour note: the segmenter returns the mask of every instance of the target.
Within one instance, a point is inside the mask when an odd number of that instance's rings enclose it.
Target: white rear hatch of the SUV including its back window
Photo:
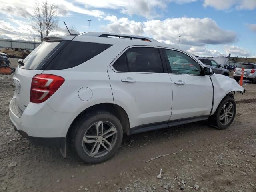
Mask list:
[[[40,66],[46,62],[48,55],[56,50],[59,44],[60,41],[43,42],[23,60],[24,65],[22,66],[19,64],[16,69],[13,78],[13,82],[16,84],[14,97],[16,97],[16,103],[22,111],[25,110],[30,102],[32,78],[36,74],[41,74],[43,72],[43,70],[40,69]]]

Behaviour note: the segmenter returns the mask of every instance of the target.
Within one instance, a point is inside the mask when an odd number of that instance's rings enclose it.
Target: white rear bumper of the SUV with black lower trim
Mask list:
[[[31,143],[66,147],[66,134],[76,113],[55,112],[47,104],[29,103],[24,112],[17,110],[16,98],[10,102],[9,117],[14,129]]]

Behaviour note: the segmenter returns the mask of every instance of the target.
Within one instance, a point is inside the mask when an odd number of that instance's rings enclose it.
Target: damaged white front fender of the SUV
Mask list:
[[[210,76],[214,87],[214,102],[212,108],[212,114],[218,108],[221,100],[228,94],[234,96],[235,92],[244,93],[245,89],[240,86],[236,80],[229,78],[228,76],[213,74]]]

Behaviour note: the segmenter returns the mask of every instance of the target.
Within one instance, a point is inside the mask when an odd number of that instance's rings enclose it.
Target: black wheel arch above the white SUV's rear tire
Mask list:
[[[122,128],[123,128],[123,132],[124,133],[128,132],[128,130],[130,128],[130,121],[129,121],[129,117],[128,117],[126,111],[117,104],[100,103],[100,104],[95,104],[93,106],[90,106],[89,108],[86,108],[84,111],[82,111],[80,114],[78,114],[78,116],[76,116],[76,118],[73,120],[70,127],[68,128],[68,132],[66,135],[67,139],[70,138],[71,132],[74,129],[73,125],[79,118],[82,118],[82,116],[84,116],[84,114],[86,114],[86,113],[89,113],[92,111],[97,111],[97,110],[104,110],[104,111],[114,114],[120,120],[120,122],[122,124]]]

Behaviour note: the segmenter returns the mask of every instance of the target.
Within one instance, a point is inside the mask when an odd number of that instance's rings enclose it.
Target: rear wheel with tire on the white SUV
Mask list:
[[[106,111],[96,111],[81,116],[72,130],[72,149],[78,158],[88,164],[97,164],[111,158],[120,147],[123,138],[120,120]],[[109,136],[111,134],[113,135]]]

